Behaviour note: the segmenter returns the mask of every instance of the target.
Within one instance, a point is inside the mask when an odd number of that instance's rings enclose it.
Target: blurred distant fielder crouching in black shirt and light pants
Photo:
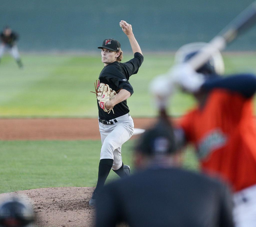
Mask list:
[[[18,47],[16,45],[16,42],[19,38],[18,34],[12,31],[12,29],[10,29],[9,27],[5,27],[5,29],[1,32],[0,38],[0,61],[5,52],[10,52],[10,54],[16,60],[19,68],[21,69],[23,67],[23,64],[20,60]]]

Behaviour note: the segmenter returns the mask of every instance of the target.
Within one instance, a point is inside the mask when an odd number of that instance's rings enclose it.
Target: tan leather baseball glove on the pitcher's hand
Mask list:
[[[105,107],[105,103],[107,101],[110,101],[112,98],[114,98],[116,95],[116,92],[114,90],[112,90],[108,84],[100,83],[100,81],[98,81],[98,82],[96,81],[96,84],[97,84],[97,88],[94,83],[95,92],[92,92],[92,93],[96,94],[100,108],[103,109],[107,113],[110,113],[111,110],[114,113],[113,107],[111,107],[109,110],[107,110]]]

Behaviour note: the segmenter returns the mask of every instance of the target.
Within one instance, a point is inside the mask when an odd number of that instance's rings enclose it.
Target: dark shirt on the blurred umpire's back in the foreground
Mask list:
[[[112,182],[101,191],[96,226],[234,226],[228,188],[205,175],[151,168]]]

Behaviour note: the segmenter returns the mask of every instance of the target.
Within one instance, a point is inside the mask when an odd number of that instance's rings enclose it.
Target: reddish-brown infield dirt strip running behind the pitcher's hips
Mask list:
[[[155,118],[134,118],[134,127],[146,129]],[[96,118],[0,119],[0,140],[99,140]]]

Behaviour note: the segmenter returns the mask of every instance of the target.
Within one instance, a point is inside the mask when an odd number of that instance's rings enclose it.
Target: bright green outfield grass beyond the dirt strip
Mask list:
[[[228,54],[226,72],[256,72],[253,54]],[[126,55],[123,61],[132,58]],[[24,69],[7,56],[0,65],[0,117],[96,117],[94,81],[103,68],[99,55],[23,54]],[[139,73],[130,78],[134,94],[128,105],[133,117],[156,115],[148,84],[173,64],[173,54],[145,53]],[[177,93],[170,113],[182,115],[194,105],[191,96]]]

